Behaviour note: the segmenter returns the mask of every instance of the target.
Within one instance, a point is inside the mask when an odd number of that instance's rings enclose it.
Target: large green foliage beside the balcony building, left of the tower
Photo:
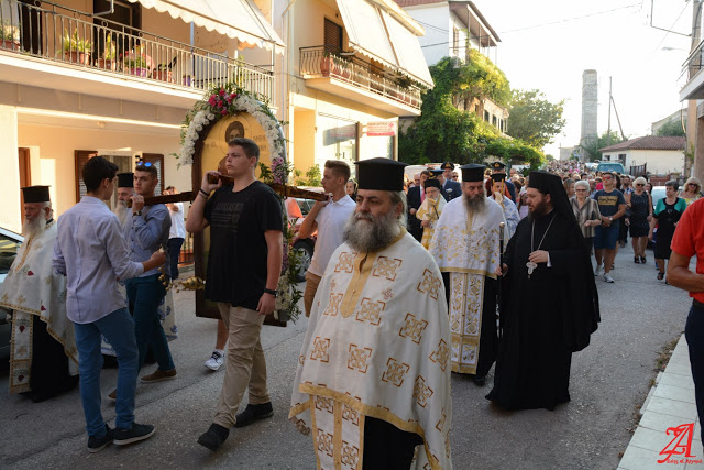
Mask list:
[[[503,136],[475,113],[454,107],[458,94],[461,99],[491,98],[497,103],[507,102],[509,97],[503,72],[476,51],[470,57],[470,64],[460,67],[450,57],[430,67],[435,88],[424,94],[420,117],[399,134],[399,160],[409,164],[465,164],[494,156],[514,163],[542,162],[542,153],[526,142]]]

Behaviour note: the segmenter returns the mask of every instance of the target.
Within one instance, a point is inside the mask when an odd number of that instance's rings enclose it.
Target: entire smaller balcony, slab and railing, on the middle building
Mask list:
[[[405,75],[392,76],[353,53],[329,46],[300,48],[306,86],[342,96],[397,116],[420,114],[420,88]]]

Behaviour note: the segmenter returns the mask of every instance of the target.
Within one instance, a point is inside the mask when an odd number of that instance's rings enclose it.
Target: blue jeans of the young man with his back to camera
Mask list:
[[[134,423],[134,390],[139,372],[139,352],[134,339],[134,320],[127,308],[120,308],[91,324],[74,324],[80,372],[80,400],[86,415],[88,436],[102,438],[106,423],[100,413],[100,371],[102,353],[100,336],[110,341],[118,354],[118,393],[116,427],[131,429]]]

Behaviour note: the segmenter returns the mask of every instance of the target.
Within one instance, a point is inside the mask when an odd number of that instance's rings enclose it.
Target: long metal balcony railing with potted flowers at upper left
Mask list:
[[[271,70],[48,1],[41,6],[0,0],[0,51],[199,91],[233,81],[274,102]]]

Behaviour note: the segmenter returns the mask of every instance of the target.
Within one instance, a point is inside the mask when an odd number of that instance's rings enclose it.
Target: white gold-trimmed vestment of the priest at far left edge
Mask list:
[[[24,241],[0,285],[0,309],[12,313],[10,341],[10,393],[30,391],[32,369],[32,315],[64,346],[68,371],[78,374],[74,324],[66,317],[66,277],[52,267],[56,222]]]

